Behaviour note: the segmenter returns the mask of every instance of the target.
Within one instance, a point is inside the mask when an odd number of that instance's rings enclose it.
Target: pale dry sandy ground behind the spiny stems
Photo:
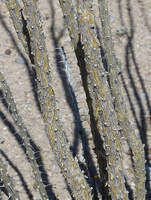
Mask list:
[[[85,102],[80,73],[73,48],[65,29],[62,11],[57,0],[39,0],[38,3],[50,57],[53,86],[60,109],[60,118],[74,154],[82,159],[81,142],[75,135],[77,123],[73,102],[67,87],[64,70],[56,60],[57,48],[64,47],[72,85],[78,102],[84,128],[89,133],[88,108]],[[94,3],[94,9],[97,4]],[[109,1],[112,36],[115,42],[116,57],[121,63],[123,94],[134,129],[145,144],[146,157],[151,148],[151,1],[115,0]],[[98,13],[95,12],[96,21]],[[98,22],[97,22],[98,23]],[[98,24],[99,26],[99,24]],[[100,33],[100,30],[98,31]],[[46,184],[53,199],[70,200],[70,194],[57,166],[49,145],[44,123],[39,111],[35,93],[34,76],[29,59],[24,53],[13,28],[4,0],[0,1],[0,71],[3,72],[19,114],[28,129],[32,144],[40,151]],[[2,97],[2,96],[1,96]],[[20,198],[41,199],[34,182],[30,164],[24,154],[22,141],[8,109],[0,103],[0,149],[1,157],[7,163]],[[89,137],[91,137],[89,135]],[[139,163],[138,163],[139,165]],[[149,167],[149,162],[147,163]],[[125,176],[132,185],[131,164],[128,157],[124,161]],[[147,168],[149,169],[149,168]],[[149,171],[147,173],[147,199],[150,196]],[[3,200],[8,199],[2,192]]]

